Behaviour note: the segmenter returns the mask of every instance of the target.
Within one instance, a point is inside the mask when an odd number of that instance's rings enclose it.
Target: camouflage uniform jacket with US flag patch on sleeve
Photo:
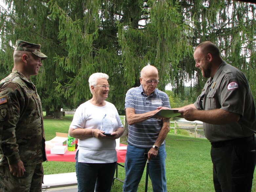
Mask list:
[[[31,80],[17,70],[0,81],[0,166],[46,160],[43,112]]]

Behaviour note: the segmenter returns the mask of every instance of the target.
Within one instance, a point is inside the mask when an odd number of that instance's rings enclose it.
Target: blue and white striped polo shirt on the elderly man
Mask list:
[[[155,89],[147,96],[143,92],[142,85],[131,88],[127,91],[125,97],[125,109],[134,108],[135,114],[142,114],[154,111],[157,107],[170,107],[169,97],[166,93]],[[141,123],[128,125],[128,143],[137,147],[152,147],[158,138],[162,128],[162,120],[150,118]],[[162,144],[164,144],[163,141]]]

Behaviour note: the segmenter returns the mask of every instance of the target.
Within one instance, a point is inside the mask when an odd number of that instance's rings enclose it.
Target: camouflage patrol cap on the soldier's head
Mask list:
[[[47,56],[40,51],[40,44],[33,44],[27,41],[17,40],[14,51],[27,51],[40,57],[41,60],[46,59]]]

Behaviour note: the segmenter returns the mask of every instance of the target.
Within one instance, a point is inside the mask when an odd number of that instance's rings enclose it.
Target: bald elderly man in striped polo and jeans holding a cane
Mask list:
[[[166,192],[164,139],[170,130],[170,120],[149,117],[159,111],[159,106],[170,108],[170,102],[167,94],[156,88],[159,83],[156,67],[145,66],[139,79],[141,85],[128,90],[125,98],[129,134],[123,192],[137,191],[147,159],[153,191]]]

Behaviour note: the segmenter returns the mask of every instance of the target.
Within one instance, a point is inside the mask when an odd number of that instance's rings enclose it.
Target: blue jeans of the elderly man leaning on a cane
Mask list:
[[[136,192],[145,169],[147,153],[150,148],[135,147],[128,144],[125,157],[125,180],[123,192]],[[149,177],[152,182],[154,192],[167,192],[165,177],[165,145],[159,147],[156,159],[149,162]]]

